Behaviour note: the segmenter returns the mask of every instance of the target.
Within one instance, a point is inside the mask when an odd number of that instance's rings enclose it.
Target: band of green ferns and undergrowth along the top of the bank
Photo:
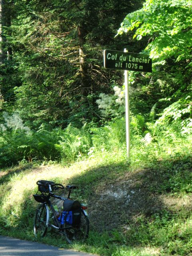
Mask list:
[[[142,115],[131,117],[131,144],[132,148],[138,148],[145,152],[144,154],[147,152],[156,159],[159,145],[170,143],[170,152],[172,152],[172,147],[179,145],[184,135],[180,134],[182,124],[179,121],[172,125],[159,121],[146,122],[153,115],[154,107],[146,118]],[[32,130],[24,126],[18,114],[13,116],[4,114],[4,118],[6,122],[1,125],[0,134],[0,166],[34,160],[41,162],[62,160],[66,163],[93,157],[100,152],[125,150],[124,118],[116,119],[101,127],[84,124],[82,128],[76,128],[70,124],[64,130],[57,128],[50,130],[50,126],[46,125]],[[133,160],[136,157],[138,156],[134,153]]]

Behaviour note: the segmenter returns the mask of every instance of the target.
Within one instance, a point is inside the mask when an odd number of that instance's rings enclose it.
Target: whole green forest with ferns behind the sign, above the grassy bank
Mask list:
[[[140,0],[1,1],[0,166],[124,145],[123,72],[104,69],[104,49],[154,63],[152,74],[130,72],[132,145],[169,125],[192,132],[191,1],[140,8]]]

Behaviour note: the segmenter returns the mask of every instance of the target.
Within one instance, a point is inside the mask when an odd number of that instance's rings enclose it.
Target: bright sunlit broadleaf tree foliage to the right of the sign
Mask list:
[[[118,30],[118,34],[133,30],[133,38],[137,40],[148,38],[144,52],[153,59],[155,73],[147,86],[148,76],[141,82],[136,104],[141,98],[147,103],[152,100],[152,104],[160,107],[160,122],[180,119],[184,133],[191,132],[192,118],[191,22],[191,0],[146,0],[142,9],[126,16]],[[141,94],[143,88],[148,99]],[[148,108],[147,103],[145,107]]]

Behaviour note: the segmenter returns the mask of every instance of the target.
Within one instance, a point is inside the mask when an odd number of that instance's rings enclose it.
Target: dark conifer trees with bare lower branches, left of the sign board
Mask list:
[[[3,110],[18,110],[35,129],[36,122],[63,128],[98,122],[96,99],[112,91],[114,76],[102,68],[102,50],[124,47],[116,29],[140,0],[8,2],[11,22],[4,27],[12,61],[0,68]]]

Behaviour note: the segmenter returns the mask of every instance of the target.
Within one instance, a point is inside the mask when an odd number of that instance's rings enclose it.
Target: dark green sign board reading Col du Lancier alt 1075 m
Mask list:
[[[146,54],[104,50],[104,67],[118,70],[152,72],[152,59]]]

